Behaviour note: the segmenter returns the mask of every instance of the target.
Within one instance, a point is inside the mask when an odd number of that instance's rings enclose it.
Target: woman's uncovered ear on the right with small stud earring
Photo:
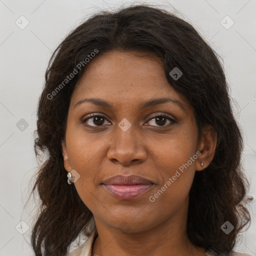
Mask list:
[[[202,135],[197,147],[200,155],[196,159],[195,170],[205,169],[212,161],[217,143],[217,134],[212,125],[207,124],[202,128]],[[203,166],[201,166],[203,163]]]

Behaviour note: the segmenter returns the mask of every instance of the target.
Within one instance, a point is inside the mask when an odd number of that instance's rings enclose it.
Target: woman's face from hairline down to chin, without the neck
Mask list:
[[[111,51],[91,60],[71,96],[62,153],[94,219],[138,231],[186,212],[195,170],[207,164],[200,166],[196,152],[205,144],[197,139],[193,108],[167,82],[162,63],[150,53]],[[117,174],[151,185],[118,197],[102,184]]]

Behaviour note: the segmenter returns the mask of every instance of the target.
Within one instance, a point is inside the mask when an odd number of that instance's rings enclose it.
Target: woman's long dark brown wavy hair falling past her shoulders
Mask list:
[[[191,24],[159,7],[138,4],[93,14],[69,32],[49,60],[34,140],[37,159],[45,156],[32,188],[40,198],[31,234],[35,255],[65,255],[80,233],[90,234],[86,227],[92,212],[75,187],[66,182],[61,141],[70,97],[86,69],[84,58],[95,49],[95,58],[110,50],[154,53],[163,63],[170,86],[193,106],[198,136],[204,124],[215,129],[214,158],[204,171],[195,172],[189,191],[186,232],[194,245],[228,254],[238,233],[250,222],[250,214],[245,197],[248,181],[240,159],[242,135],[231,107],[224,68],[219,55]],[[63,81],[77,63],[83,65],[64,86]],[[183,73],[178,80],[169,75],[174,67]],[[226,220],[234,226],[228,235],[220,229]]]

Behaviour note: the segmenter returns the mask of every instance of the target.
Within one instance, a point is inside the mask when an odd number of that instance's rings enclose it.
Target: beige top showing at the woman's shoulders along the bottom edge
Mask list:
[[[97,230],[96,228],[94,228],[92,230],[91,235],[88,236],[88,239],[83,244],[81,244],[80,247],[67,253],[66,256],[98,256],[97,254],[91,255],[92,245],[96,237],[97,237]],[[212,253],[210,250],[207,250],[204,256],[215,256],[215,255],[216,254]],[[232,251],[230,253],[230,256],[251,256],[251,255]]]

